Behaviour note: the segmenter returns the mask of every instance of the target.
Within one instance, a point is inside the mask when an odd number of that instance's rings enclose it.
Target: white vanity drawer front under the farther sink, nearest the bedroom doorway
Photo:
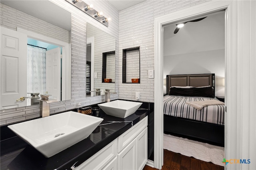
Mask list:
[[[127,146],[142,130],[148,126],[148,117],[136,123],[133,127],[128,129],[117,139],[117,151],[120,152],[125,146]]]

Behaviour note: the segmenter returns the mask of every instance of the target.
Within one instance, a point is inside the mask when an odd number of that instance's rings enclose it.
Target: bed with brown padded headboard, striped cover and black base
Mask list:
[[[164,133],[224,146],[224,103],[215,99],[214,74],[167,75]],[[189,103],[218,104],[196,109]]]

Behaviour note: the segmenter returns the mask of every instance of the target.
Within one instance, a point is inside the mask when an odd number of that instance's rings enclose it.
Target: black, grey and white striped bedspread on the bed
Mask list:
[[[188,101],[212,100],[207,97],[164,96],[164,114],[174,117],[224,125],[224,105],[212,105],[197,110]]]

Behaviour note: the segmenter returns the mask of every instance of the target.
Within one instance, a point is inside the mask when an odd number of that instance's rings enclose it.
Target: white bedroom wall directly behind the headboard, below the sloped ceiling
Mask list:
[[[166,75],[215,73],[215,95],[225,96],[222,79],[225,77],[225,50],[202,51],[164,56],[164,93]]]

